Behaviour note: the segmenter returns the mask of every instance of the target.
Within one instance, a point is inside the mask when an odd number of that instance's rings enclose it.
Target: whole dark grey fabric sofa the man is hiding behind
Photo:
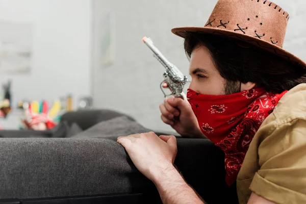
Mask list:
[[[116,142],[120,133],[102,138],[92,134],[95,124],[122,115],[136,125],[132,117],[98,110],[63,116],[68,126],[81,127],[78,137],[55,137],[58,130],[0,131],[0,203],[161,203],[154,184]],[[177,146],[176,166],[207,202],[237,202],[235,186],[224,181],[221,150],[205,139],[177,137]]]

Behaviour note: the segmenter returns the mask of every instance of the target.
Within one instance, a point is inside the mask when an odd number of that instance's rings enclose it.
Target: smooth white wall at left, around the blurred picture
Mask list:
[[[13,80],[13,102],[90,94],[90,0],[0,0],[0,20],[34,25],[31,73],[0,77]]]

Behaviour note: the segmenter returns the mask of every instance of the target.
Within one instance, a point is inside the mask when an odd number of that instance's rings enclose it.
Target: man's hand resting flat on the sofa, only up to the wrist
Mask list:
[[[173,169],[177,153],[174,136],[160,136],[155,133],[142,133],[117,140],[129,154],[137,169],[152,182],[162,177],[167,169]]]

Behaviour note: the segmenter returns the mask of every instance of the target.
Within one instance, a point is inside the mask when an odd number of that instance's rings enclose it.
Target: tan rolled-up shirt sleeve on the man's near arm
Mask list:
[[[250,190],[276,203],[306,203],[306,119],[276,127],[258,148]]]

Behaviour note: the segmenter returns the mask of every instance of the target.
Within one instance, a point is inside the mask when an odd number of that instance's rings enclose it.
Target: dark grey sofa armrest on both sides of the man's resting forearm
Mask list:
[[[218,147],[207,139],[177,139],[177,148],[176,166],[207,202],[235,203],[228,194],[235,197],[236,189],[225,184]],[[0,200],[113,193],[153,194],[153,203],[159,200],[155,185],[116,138],[2,138],[0,166]]]

